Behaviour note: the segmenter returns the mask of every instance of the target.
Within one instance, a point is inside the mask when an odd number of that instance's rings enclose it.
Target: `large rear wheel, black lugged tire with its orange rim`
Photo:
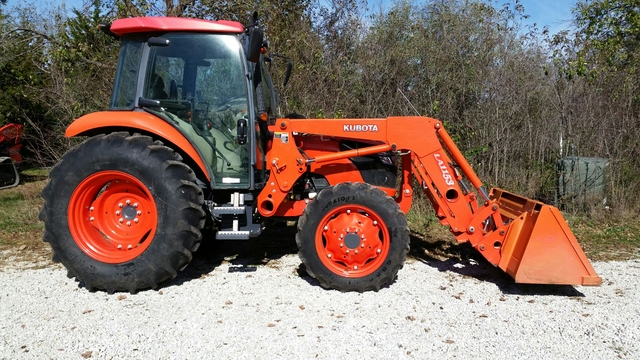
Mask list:
[[[90,291],[155,288],[191,260],[205,213],[193,171],[148,136],[97,135],[51,170],[40,219],[53,260]]]

